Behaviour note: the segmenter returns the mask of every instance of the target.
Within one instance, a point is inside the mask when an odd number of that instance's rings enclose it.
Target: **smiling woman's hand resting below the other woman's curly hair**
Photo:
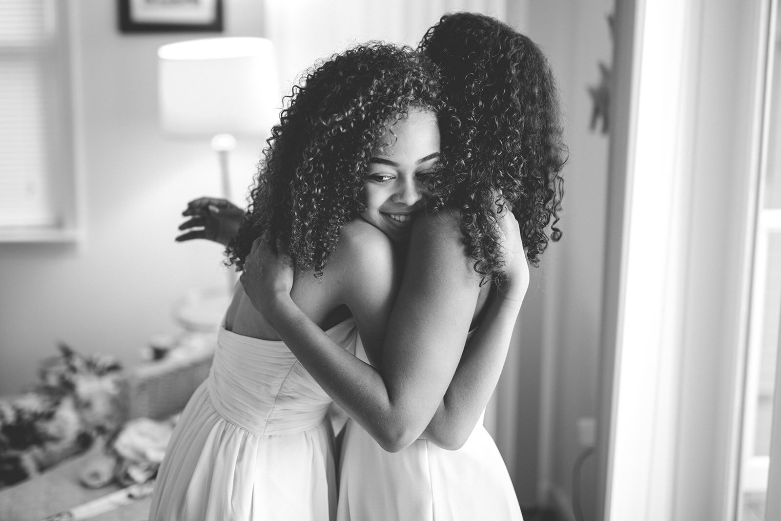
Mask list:
[[[501,233],[501,255],[505,261],[502,269],[504,277],[499,287],[504,298],[520,303],[529,287],[529,265],[526,252],[523,251],[521,229],[508,204],[497,213],[497,219]]]

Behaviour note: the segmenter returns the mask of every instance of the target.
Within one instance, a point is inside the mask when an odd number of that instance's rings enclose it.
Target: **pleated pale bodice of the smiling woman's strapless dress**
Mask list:
[[[354,319],[344,320],[326,334],[355,352]],[[244,337],[224,327],[219,330],[207,385],[220,416],[261,436],[318,426],[331,403],[283,341]]]

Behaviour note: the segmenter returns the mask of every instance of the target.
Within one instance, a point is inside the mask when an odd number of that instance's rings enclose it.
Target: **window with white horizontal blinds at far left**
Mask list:
[[[68,3],[0,2],[2,241],[74,237]]]

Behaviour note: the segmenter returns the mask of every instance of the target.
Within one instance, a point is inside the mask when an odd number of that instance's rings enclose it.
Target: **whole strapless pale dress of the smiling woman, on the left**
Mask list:
[[[326,333],[355,352],[355,320]],[[337,508],[331,399],[282,341],[221,328],[209,377],[177,422],[150,521],[330,521]]]

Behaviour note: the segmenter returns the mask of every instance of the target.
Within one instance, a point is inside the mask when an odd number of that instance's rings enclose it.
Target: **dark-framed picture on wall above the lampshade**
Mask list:
[[[117,0],[123,33],[223,30],[223,0]]]

